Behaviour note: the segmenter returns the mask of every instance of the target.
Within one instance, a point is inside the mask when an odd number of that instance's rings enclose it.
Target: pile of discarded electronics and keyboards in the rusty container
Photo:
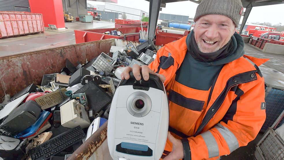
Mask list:
[[[149,65],[151,40],[136,47],[112,46],[109,53],[43,75],[0,104],[0,159],[67,159],[108,119],[110,103],[127,66]]]

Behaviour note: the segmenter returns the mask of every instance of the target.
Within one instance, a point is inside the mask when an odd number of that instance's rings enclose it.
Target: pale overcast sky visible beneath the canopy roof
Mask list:
[[[88,1],[91,4],[104,5],[104,2]],[[114,3],[112,3],[114,4]],[[149,13],[149,2],[145,0],[118,0],[117,5],[143,10]],[[160,13],[179,14],[193,18],[198,4],[191,1],[166,3]],[[284,25],[284,4],[253,7],[247,22],[270,22],[275,25]]]

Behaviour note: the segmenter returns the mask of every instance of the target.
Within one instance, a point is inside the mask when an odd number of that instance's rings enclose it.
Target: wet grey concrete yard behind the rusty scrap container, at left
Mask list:
[[[66,30],[47,30],[39,34],[0,39],[0,56],[12,56],[25,52],[49,49],[64,45],[75,44],[74,30],[93,28],[112,28],[114,23],[109,21],[93,21],[93,23],[65,23]]]

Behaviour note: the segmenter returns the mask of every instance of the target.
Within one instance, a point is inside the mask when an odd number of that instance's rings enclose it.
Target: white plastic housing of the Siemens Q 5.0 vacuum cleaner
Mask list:
[[[144,92],[151,99],[151,110],[144,117],[135,117],[127,110],[127,100],[135,92]],[[107,125],[110,155],[114,160],[159,160],[166,145],[168,123],[168,99],[164,91],[155,88],[138,90],[133,89],[132,85],[119,86],[112,100]],[[153,150],[153,155],[137,156],[117,152],[116,145],[122,142],[147,145]]]

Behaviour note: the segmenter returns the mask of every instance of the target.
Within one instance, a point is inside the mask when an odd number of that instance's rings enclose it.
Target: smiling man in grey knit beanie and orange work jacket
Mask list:
[[[187,37],[159,49],[149,66],[121,74],[128,79],[133,71],[140,80],[142,71],[148,80],[154,73],[164,82],[170,106],[164,160],[220,159],[255,139],[263,125],[264,79],[257,66],[266,60],[244,56],[235,33],[242,12],[240,0],[201,1]]]

